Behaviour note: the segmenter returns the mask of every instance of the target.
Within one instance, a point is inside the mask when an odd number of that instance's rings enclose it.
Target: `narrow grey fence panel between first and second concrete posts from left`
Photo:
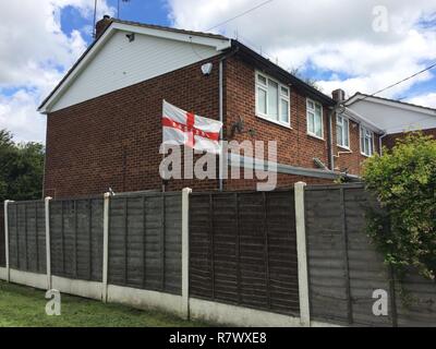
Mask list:
[[[8,205],[10,266],[46,273],[46,222],[43,201]]]

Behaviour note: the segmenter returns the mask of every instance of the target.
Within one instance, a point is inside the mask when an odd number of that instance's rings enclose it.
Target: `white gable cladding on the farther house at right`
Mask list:
[[[432,116],[432,111],[424,113],[412,108],[408,110],[370,100],[355,101],[349,108],[389,134],[436,129],[436,112]]]

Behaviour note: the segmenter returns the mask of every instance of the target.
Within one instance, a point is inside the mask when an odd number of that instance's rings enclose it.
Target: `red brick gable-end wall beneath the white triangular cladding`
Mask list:
[[[217,60],[214,65],[218,67]],[[45,193],[56,197],[160,189],[162,99],[218,119],[218,69],[201,63],[48,116]],[[217,188],[217,181],[173,186]]]

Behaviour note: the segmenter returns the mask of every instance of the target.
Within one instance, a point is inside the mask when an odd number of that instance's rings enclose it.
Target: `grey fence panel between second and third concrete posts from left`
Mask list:
[[[51,273],[101,281],[101,197],[50,202]]]

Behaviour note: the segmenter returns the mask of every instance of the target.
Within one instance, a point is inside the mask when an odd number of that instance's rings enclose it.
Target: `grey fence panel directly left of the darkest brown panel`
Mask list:
[[[181,194],[114,196],[109,216],[109,282],[181,294]]]

